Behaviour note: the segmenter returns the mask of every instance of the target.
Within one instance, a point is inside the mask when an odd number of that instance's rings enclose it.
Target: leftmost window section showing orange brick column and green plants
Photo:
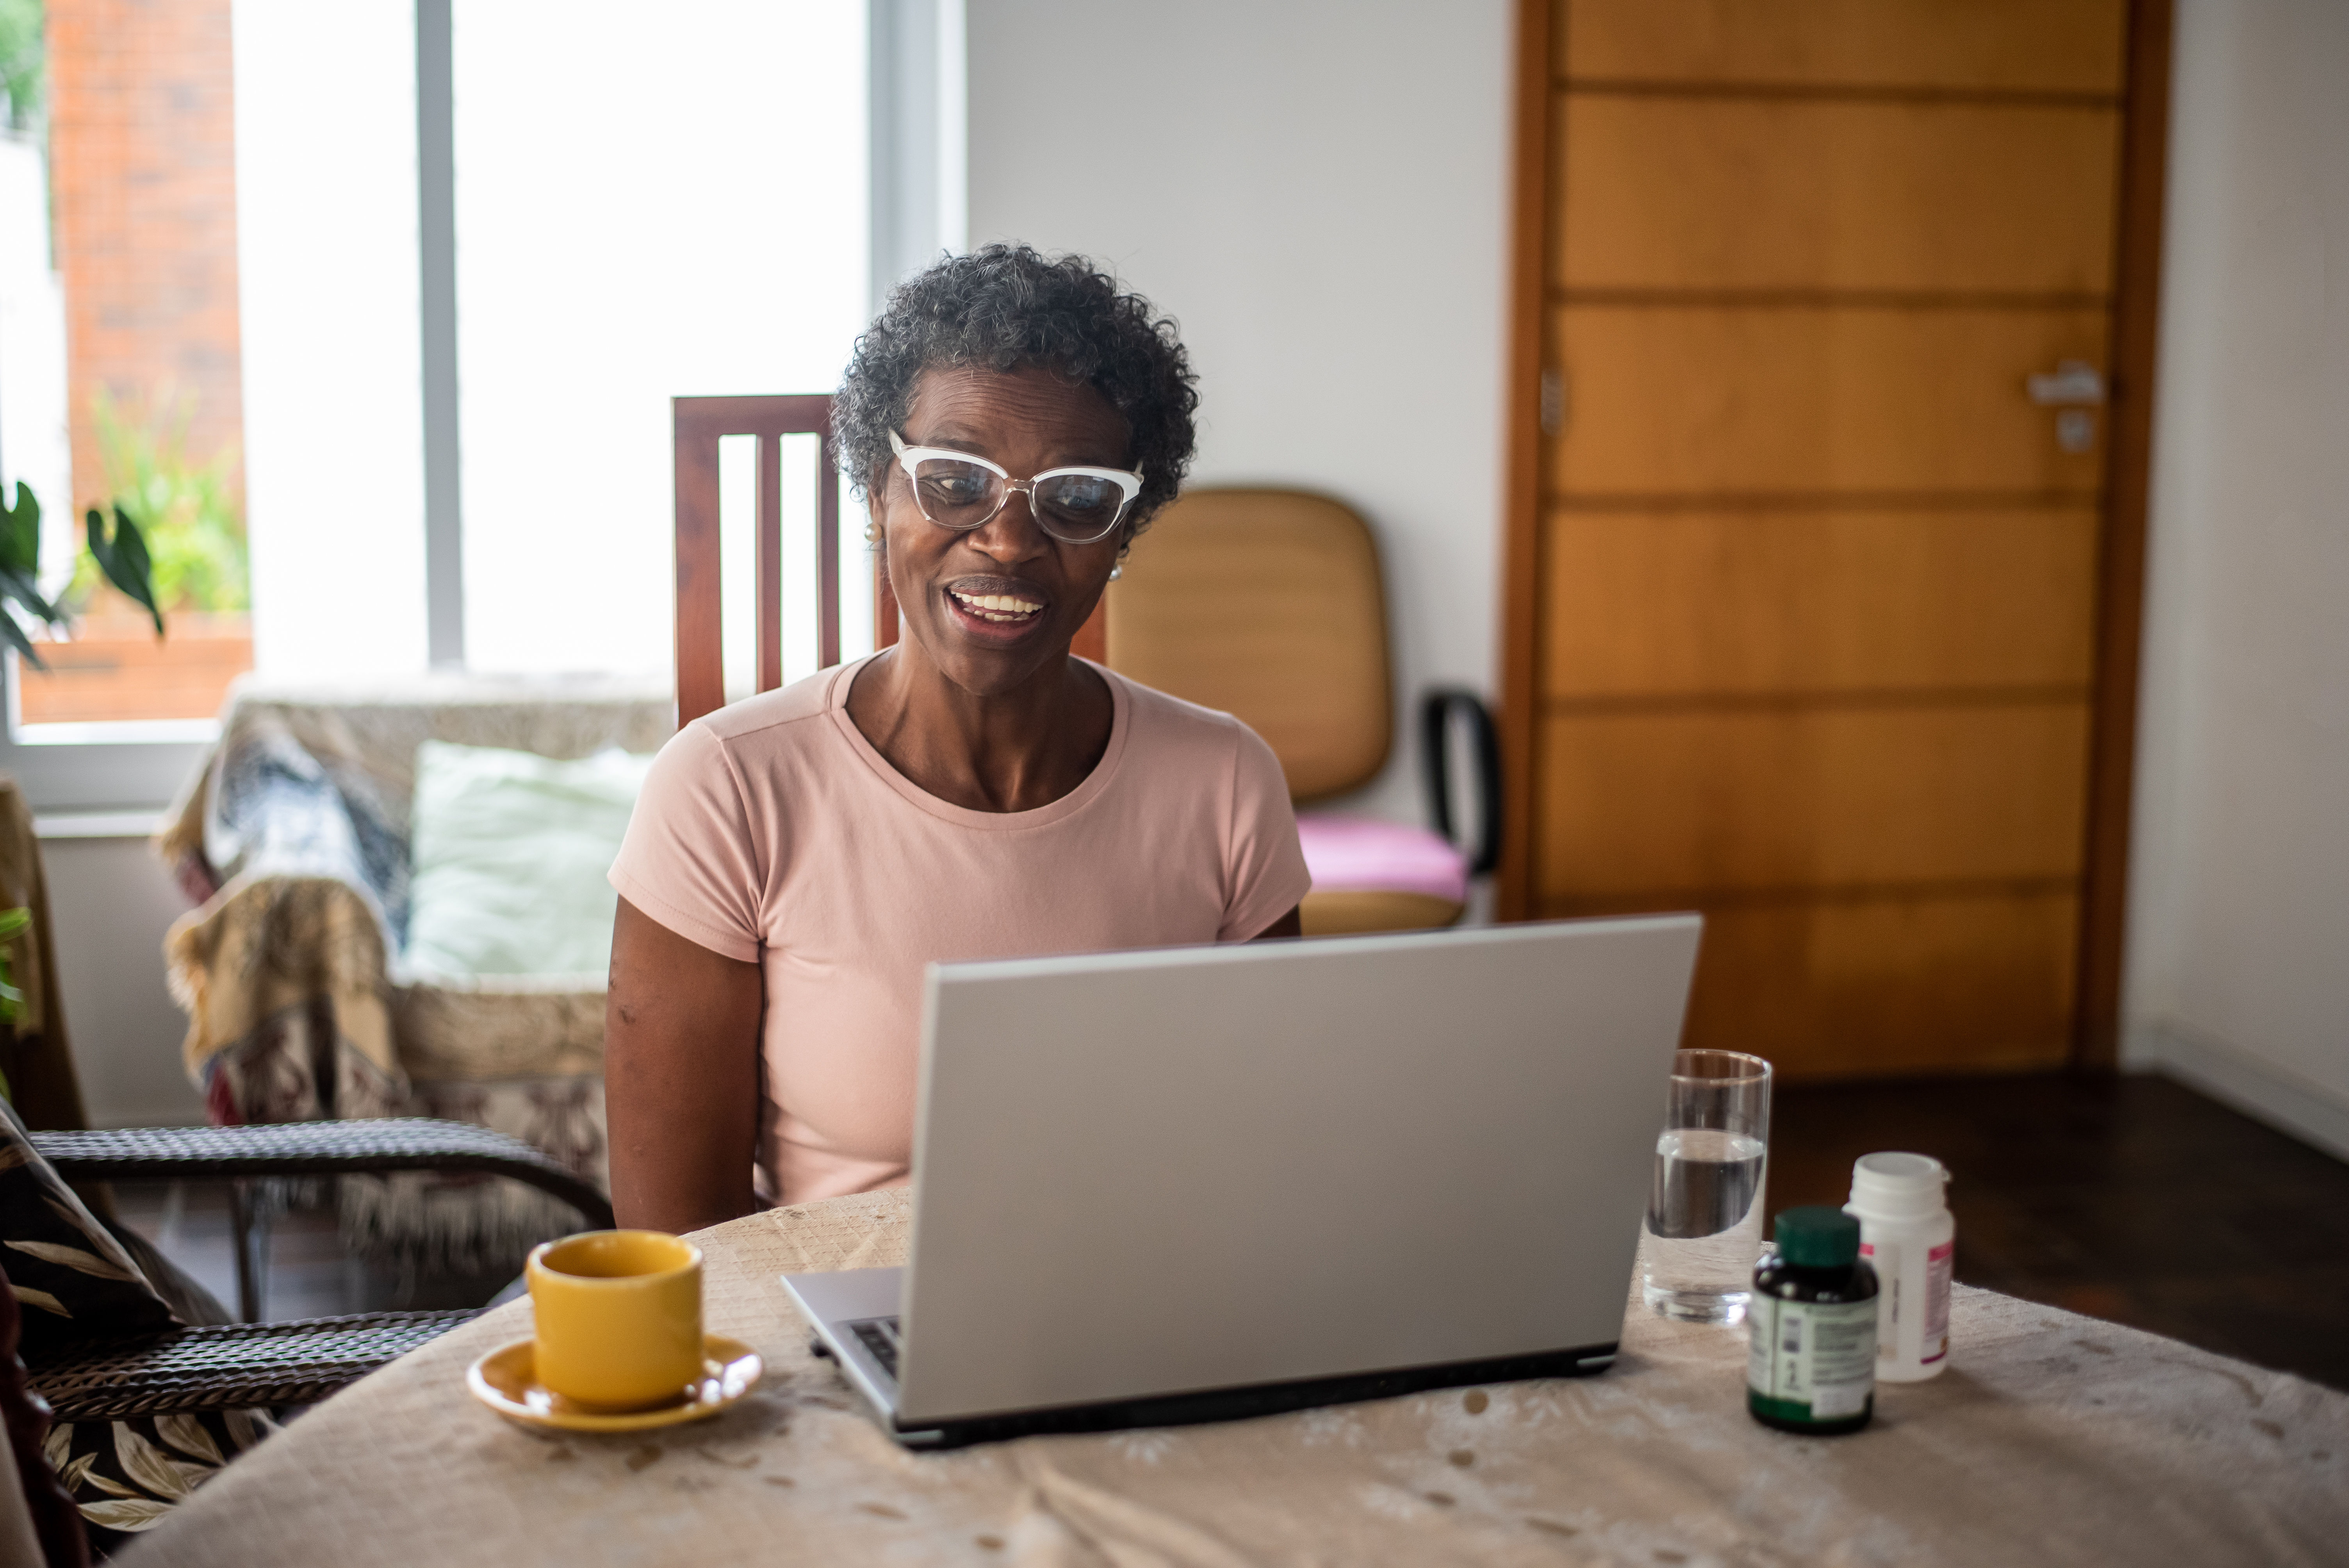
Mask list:
[[[7,695],[49,742],[202,730],[251,667],[228,14],[101,12],[0,0],[0,481],[40,500],[40,584],[75,620]],[[82,554],[94,505],[146,530],[169,641]]]

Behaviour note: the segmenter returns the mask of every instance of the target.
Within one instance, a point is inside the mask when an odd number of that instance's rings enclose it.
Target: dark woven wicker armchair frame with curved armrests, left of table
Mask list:
[[[587,1181],[510,1138],[465,1122],[287,1122],[277,1127],[164,1127],[35,1131],[33,1148],[68,1181],[249,1181],[378,1171],[482,1171],[512,1176],[580,1211],[590,1230],[613,1223]],[[249,1209],[237,1204],[237,1293],[258,1317]],[[362,1312],[284,1324],[169,1329],[85,1340],[28,1366],[33,1392],[59,1420],[169,1415],[312,1404],[477,1317]]]

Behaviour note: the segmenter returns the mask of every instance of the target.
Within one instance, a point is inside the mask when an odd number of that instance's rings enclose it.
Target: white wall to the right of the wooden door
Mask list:
[[[2128,1059],[2349,1155],[2349,7],[2175,59]]]

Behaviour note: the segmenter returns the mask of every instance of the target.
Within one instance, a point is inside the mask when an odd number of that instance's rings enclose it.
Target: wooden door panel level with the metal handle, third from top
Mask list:
[[[1567,305],[1560,495],[2093,495],[2025,378],[2105,361],[2102,310]]]

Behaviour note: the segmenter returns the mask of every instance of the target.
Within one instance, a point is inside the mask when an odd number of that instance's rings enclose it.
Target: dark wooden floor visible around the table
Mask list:
[[[1842,1204],[1851,1162],[1954,1171],[1957,1277],[2349,1390],[2349,1164],[2166,1077],[1783,1087],[1769,1209]],[[226,1190],[120,1185],[122,1216],[235,1305]],[[275,1225],[265,1317],[477,1305],[503,1279],[395,1279],[331,1214]],[[1964,1354],[1964,1347],[1959,1347]]]

